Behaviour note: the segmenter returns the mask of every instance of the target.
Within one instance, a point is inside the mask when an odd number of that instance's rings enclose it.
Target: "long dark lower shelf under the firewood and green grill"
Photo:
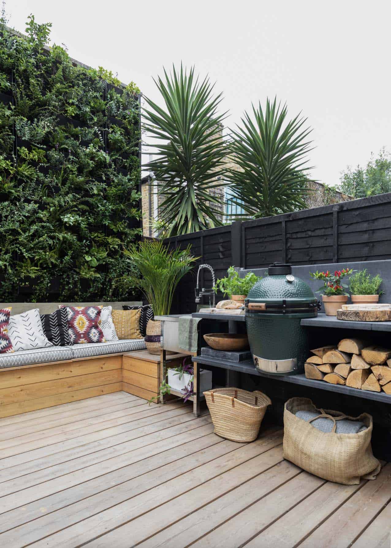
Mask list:
[[[192,361],[204,364],[206,366],[221,367],[222,369],[229,369],[232,371],[238,371],[240,373],[248,373],[249,375],[264,376],[269,379],[283,380],[286,383],[300,384],[303,386],[310,386],[312,388],[320,388],[321,390],[328,390],[329,392],[347,394],[348,396],[372,399],[374,401],[383,403],[391,403],[391,395],[386,394],[386,392],[371,392],[369,390],[359,390],[356,388],[351,388],[350,386],[325,383],[325,381],[323,380],[307,379],[304,374],[274,375],[272,373],[260,373],[257,369],[255,369],[254,363],[250,359],[237,363],[225,361],[222,359],[214,359],[208,356],[195,356],[192,358]]]

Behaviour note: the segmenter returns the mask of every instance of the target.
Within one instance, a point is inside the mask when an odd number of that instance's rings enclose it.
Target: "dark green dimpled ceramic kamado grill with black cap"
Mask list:
[[[274,262],[268,276],[251,288],[245,299],[246,327],[252,358],[261,373],[302,373],[309,353],[302,318],[318,315],[320,303],[292,266]]]

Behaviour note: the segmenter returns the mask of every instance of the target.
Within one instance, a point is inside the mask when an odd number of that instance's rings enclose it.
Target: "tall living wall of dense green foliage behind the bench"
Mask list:
[[[140,94],[29,18],[0,28],[0,301],[116,300],[139,237]]]

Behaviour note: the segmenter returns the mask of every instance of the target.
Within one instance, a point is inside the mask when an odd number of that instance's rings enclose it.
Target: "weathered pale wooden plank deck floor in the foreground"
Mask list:
[[[0,546],[389,548],[391,464],[358,486],[125,392],[0,419]]]

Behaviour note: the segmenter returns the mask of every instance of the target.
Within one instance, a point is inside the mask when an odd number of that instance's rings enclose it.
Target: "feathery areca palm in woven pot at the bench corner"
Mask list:
[[[172,298],[180,279],[192,270],[198,259],[186,249],[169,249],[159,240],[145,240],[133,244],[124,251],[129,265],[129,274],[122,277],[118,285],[137,287],[145,295],[155,316],[170,313]],[[147,324],[145,344],[151,354],[160,353],[162,324],[150,319]]]

